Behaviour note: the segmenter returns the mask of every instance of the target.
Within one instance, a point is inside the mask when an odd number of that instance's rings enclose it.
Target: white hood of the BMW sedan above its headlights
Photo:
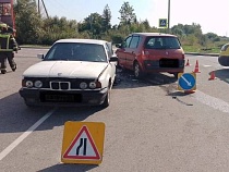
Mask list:
[[[106,66],[106,62],[43,61],[29,66],[23,76],[97,78]]]

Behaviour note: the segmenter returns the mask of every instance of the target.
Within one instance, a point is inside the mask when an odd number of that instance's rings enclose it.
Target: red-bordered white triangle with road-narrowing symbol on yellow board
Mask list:
[[[84,125],[70,147],[63,155],[65,159],[99,160],[100,156],[91,136],[88,128]]]

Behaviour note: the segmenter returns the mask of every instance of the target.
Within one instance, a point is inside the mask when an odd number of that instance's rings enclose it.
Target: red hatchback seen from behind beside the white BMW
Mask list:
[[[161,33],[133,33],[116,45],[119,66],[146,73],[168,72],[178,77],[184,72],[184,51],[177,36]]]

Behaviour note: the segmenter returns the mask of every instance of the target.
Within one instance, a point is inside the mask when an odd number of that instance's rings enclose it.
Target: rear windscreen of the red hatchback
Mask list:
[[[144,47],[145,49],[180,49],[181,45],[176,37],[148,37]]]

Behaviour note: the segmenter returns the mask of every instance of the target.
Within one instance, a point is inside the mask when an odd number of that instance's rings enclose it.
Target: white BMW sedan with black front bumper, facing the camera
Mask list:
[[[28,107],[108,107],[118,61],[112,54],[105,40],[58,40],[23,73],[20,95]]]

